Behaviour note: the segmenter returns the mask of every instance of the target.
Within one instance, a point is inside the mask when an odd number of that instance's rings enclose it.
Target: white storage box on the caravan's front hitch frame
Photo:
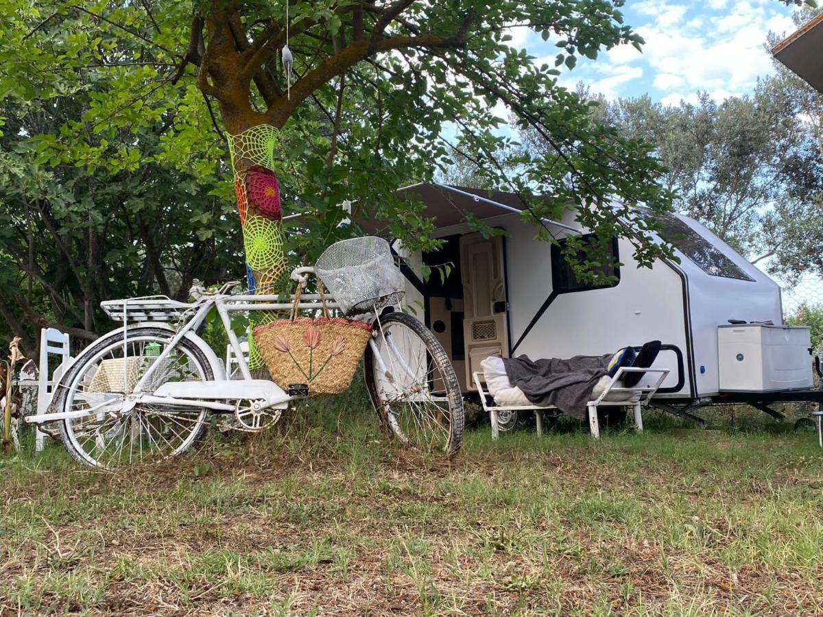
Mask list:
[[[720,392],[812,387],[810,348],[806,326],[719,326]]]

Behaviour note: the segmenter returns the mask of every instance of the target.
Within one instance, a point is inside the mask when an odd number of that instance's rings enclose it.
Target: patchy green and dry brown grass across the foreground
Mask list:
[[[0,615],[823,612],[811,434],[648,412],[601,443],[472,429],[449,463],[364,409],[315,401],[128,474],[56,443],[0,458]]]

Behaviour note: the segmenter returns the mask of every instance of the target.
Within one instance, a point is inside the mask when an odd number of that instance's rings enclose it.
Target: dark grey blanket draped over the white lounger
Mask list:
[[[506,374],[513,386],[523,390],[529,401],[557,409],[579,420],[585,420],[586,403],[592,400],[592,389],[606,374],[611,360],[607,355],[575,355],[569,360],[551,358],[532,361],[528,355],[504,358]]]

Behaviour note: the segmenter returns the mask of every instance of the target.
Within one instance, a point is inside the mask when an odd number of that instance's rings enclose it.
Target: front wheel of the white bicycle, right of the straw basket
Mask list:
[[[463,395],[443,346],[406,313],[388,313],[374,327],[378,353],[366,349],[365,380],[381,426],[421,452],[457,453]]]

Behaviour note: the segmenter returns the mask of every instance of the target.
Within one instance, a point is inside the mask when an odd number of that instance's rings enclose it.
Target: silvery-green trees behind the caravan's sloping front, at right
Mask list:
[[[788,76],[751,95],[665,106],[604,103],[622,132],[656,146],[679,211],[787,281],[823,273],[823,151]],[[823,110],[820,105],[818,113]]]

